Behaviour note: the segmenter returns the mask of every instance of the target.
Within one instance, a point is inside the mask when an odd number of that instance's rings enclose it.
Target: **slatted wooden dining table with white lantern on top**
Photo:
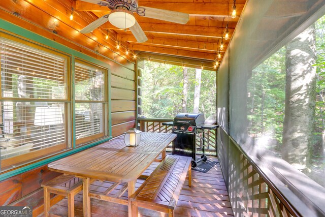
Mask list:
[[[124,192],[127,188],[128,198],[131,197],[135,193],[137,179],[160,154],[162,159],[165,158],[166,147],[175,138],[175,134],[141,133],[140,144],[128,147],[125,146],[123,137],[119,137],[52,162],[48,168],[82,178],[84,216],[90,216],[90,198],[128,204],[127,200],[108,194],[89,192],[92,181],[112,181],[115,184],[111,188],[126,183]]]

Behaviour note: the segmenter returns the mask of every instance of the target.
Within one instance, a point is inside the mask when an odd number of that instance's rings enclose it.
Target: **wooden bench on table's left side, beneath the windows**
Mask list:
[[[75,215],[74,197],[82,191],[82,179],[74,175],[60,175],[46,184],[42,184],[44,189],[44,216],[49,216],[50,193],[68,197],[69,217]]]

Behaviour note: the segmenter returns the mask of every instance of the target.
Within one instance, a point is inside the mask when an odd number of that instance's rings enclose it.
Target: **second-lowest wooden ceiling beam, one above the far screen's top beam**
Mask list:
[[[142,44],[130,44],[129,49],[134,51],[144,51],[158,54],[169,54],[174,56],[183,56],[190,57],[202,60],[211,60],[214,61],[217,54],[214,53],[205,53],[205,52],[194,52],[182,49],[173,49],[173,48],[164,48],[164,47],[155,47],[147,46]]]

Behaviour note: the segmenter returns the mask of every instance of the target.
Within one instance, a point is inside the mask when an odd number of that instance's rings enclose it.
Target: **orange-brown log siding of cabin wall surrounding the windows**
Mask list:
[[[0,1],[0,20],[30,30],[32,33],[67,46],[76,52],[81,52],[109,64],[111,134],[113,137],[118,136],[135,126],[136,65],[131,57],[119,54],[120,51],[114,46],[114,40],[99,40],[96,42],[89,35],[79,34],[76,26],[78,28],[86,26],[90,22],[91,15],[86,12],[75,13],[73,24],[71,24],[69,10],[72,7],[73,1],[71,0],[33,2],[5,0]],[[45,8],[46,11],[41,8]],[[67,15],[68,13],[69,15]],[[60,17],[60,19],[54,22],[54,17]],[[11,34],[10,29],[5,25],[1,25],[0,30]],[[96,29],[92,36],[95,37],[100,34],[102,34],[101,31]],[[23,36],[17,34],[17,36],[34,41],[28,34]],[[36,43],[38,42],[36,41]],[[43,165],[0,181],[0,189],[2,189],[0,191],[0,206],[29,205],[33,207],[33,216],[40,214],[43,211],[43,189],[41,184],[57,175],[59,174],[48,171],[47,165]]]

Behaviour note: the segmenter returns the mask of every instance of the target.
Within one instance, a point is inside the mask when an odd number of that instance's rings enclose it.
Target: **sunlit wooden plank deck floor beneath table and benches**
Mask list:
[[[210,160],[218,161],[215,157]],[[158,165],[153,163],[146,171],[146,175]],[[144,180],[138,179],[136,188],[139,188]],[[94,182],[91,191],[103,192],[107,189],[105,182]],[[125,196],[127,193],[124,194]],[[123,196],[124,196],[123,195]],[[126,198],[126,197],[125,197]],[[83,216],[82,193],[75,197],[75,216]],[[51,207],[51,216],[67,216],[67,198],[61,200]],[[140,216],[167,216],[165,213],[139,208]],[[177,207],[176,216],[233,216],[233,211],[229,202],[220,165],[215,165],[207,173],[192,171],[192,187],[188,187],[186,180]],[[106,201],[91,199],[91,216],[127,216],[127,206],[110,203]]]

